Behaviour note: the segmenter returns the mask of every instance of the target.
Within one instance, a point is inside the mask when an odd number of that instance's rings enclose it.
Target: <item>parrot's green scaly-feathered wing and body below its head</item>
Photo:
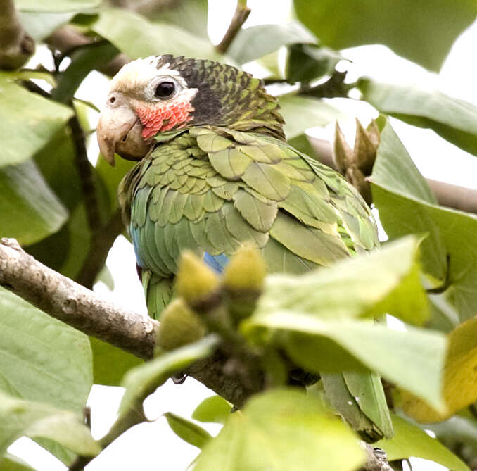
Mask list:
[[[279,139],[220,127],[156,147],[122,181],[120,202],[157,306],[184,249],[230,256],[253,240],[269,270],[299,273],[378,244],[369,208],[336,172]]]

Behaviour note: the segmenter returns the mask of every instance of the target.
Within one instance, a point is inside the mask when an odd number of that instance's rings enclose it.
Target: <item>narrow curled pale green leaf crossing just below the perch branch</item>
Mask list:
[[[208,335],[208,337],[204,337],[193,344],[163,353],[153,360],[144,363],[144,365],[139,365],[129,370],[122,380],[122,386],[126,388],[126,391],[125,395],[122,396],[120,415],[126,413],[137,401],[141,401],[146,395],[152,394],[174,372],[186,368],[193,361],[209,356],[214,351],[217,343],[217,337]]]

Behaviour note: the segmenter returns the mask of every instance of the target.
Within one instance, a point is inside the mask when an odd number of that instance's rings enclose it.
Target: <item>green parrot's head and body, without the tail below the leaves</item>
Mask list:
[[[270,272],[299,274],[378,246],[360,194],[288,145],[283,124],[262,80],[231,65],[151,56],[113,77],[98,144],[112,165],[139,161],[119,200],[153,318],[184,249],[221,272],[253,241]]]

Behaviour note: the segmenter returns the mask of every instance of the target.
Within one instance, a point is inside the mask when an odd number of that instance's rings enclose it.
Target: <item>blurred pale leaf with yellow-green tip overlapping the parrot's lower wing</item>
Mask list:
[[[408,237],[307,275],[271,275],[255,316],[290,310],[337,320],[388,313],[421,324],[428,307],[419,281],[418,247],[418,239]]]

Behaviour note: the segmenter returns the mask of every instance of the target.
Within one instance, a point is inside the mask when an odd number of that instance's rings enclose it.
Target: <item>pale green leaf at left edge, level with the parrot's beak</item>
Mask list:
[[[0,167],[32,157],[72,116],[67,106],[27,92],[13,80],[15,74],[0,73]]]

